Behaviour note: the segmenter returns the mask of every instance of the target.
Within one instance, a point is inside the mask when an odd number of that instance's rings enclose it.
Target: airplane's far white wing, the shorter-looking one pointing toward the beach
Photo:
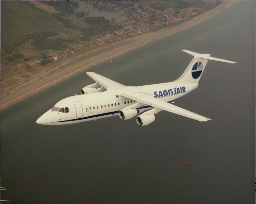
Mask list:
[[[95,72],[86,72],[86,74],[91,77],[95,82],[103,86],[105,89],[108,88],[124,88],[125,85],[119,84],[111,79],[108,79],[106,77],[103,77]]]

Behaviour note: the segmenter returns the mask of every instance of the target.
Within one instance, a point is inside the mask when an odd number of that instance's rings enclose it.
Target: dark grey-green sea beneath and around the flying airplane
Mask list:
[[[118,117],[58,127],[36,124],[57,101],[93,83],[85,71],[4,109],[1,186],[10,189],[1,198],[254,203],[254,20],[255,2],[239,1],[199,25],[86,70],[137,86],[180,77],[192,59],[180,49],[236,61],[208,62],[198,89],[175,103],[211,118],[208,122],[160,112],[146,127]]]

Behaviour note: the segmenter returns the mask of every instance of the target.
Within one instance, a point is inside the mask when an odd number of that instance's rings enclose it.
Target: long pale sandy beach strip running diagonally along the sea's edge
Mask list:
[[[201,23],[227,9],[235,2],[236,1],[223,1],[218,7],[181,24],[167,27],[156,32],[143,33],[129,39],[111,43],[104,47],[96,48],[89,53],[85,52],[72,59],[66,59],[62,61],[61,64],[58,64],[51,69],[36,73],[35,76],[33,75],[29,80],[24,81],[24,83],[15,87],[15,89],[12,89],[12,93],[9,93],[9,95],[6,94],[8,91],[1,93],[1,110],[93,65],[112,59],[116,56],[129,52],[132,49],[146,45],[154,40],[180,32]]]

